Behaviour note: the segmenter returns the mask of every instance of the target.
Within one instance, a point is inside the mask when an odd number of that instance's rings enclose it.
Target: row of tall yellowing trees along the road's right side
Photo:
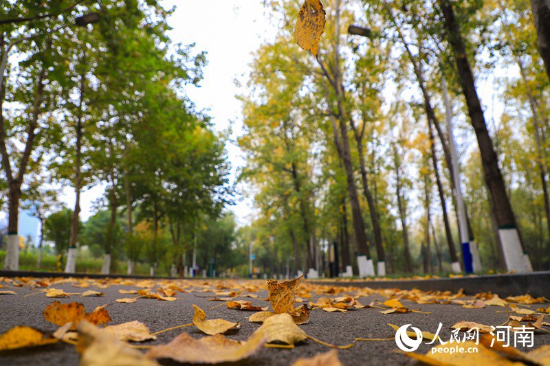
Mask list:
[[[314,58],[294,43],[299,4],[267,2],[281,32],[240,97],[260,214],[245,231],[266,268],[322,269],[337,242],[360,275],[373,258],[382,275],[456,272],[476,242],[486,268],[547,269],[549,75],[526,4],[322,3]]]

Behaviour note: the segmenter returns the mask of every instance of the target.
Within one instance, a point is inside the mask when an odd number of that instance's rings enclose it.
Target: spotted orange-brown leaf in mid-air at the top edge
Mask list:
[[[294,28],[296,43],[317,57],[319,38],[325,30],[325,10],[320,0],[305,0]]]

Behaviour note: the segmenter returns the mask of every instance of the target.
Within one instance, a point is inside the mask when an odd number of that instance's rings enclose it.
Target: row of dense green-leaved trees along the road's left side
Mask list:
[[[231,199],[225,136],[212,132],[208,116],[195,111],[184,93],[201,80],[206,55],[170,41],[166,19],[172,11],[155,0],[0,5],[5,268],[19,266],[20,203],[44,222],[58,209],[52,187],[59,184],[76,194],[64,228],[67,272],[76,269],[83,238],[80,194],[92,185],[105,187],[98,207],[109,216],[103,273],[121,247],[131,262],[140,259],[136,229],[142,222],[153,233],[151,264],[164,258],[160,236],[166,230],[170,260],[181,267],[197,228]]]

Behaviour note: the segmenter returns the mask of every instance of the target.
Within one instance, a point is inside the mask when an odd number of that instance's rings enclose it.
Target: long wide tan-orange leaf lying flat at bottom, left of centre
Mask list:
[[[221,334],[195,339],[181,333],[166,345],[156,345],[148,358],[170,358],[179,363],[228,363],[243,360],[256,353],[265,343],[263,334],[253,333],[245,342]]]

